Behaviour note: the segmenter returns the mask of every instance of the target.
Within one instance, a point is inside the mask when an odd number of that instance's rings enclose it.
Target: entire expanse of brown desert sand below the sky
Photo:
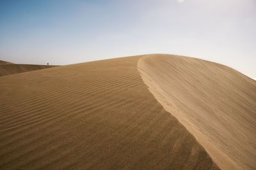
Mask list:
[[[230,67],[0,63],[0,169],[256,169],[256,81]]]

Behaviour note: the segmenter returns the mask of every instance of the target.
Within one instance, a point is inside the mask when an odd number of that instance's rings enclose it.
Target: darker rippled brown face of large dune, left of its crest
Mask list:
[[[0,78],[0,169],[218,169],[148,91],[143,56]]]

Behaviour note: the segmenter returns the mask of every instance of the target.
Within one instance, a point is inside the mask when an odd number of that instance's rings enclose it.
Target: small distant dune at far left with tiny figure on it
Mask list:
[[[37,69],[51,68],[55,66],[34,65],[34,64],[14,64],[12,62],[6,62],[0,60],[0,76],[6,76],[10,74],[23,73],[26,71],[34,71]]]

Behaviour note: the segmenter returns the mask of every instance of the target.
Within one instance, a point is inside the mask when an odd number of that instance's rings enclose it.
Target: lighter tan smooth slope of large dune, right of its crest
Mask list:
[[[256,169],[256,81],[221,64],[175,55],[143,57],[138,70],[221,169]]]

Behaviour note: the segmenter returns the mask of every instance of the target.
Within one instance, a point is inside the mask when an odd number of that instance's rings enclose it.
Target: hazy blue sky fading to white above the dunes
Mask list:
[[[256,79],[256,1],[0,0],[0,60],[65,65],[148,53]]]

